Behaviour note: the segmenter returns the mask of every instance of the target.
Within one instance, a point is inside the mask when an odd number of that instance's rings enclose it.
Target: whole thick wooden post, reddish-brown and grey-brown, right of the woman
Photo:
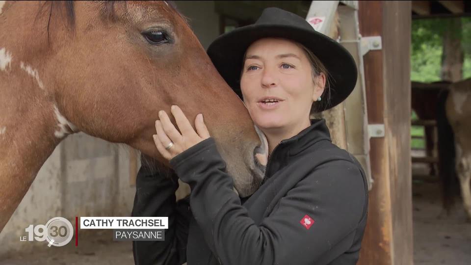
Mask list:
[[[370,139],[368,222],[359,264],[413,264],[410,164],[410,1],[359,1],[362,36],[382,36],[364,56],[368,122],[385,124]]]

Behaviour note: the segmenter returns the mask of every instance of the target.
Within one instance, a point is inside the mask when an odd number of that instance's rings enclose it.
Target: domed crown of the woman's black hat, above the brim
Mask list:
[[[255,25],[281,25],[315,31],[311,24],[302,17],[278,7],[267,7],[263,9],[262,15],[255,22]]]

